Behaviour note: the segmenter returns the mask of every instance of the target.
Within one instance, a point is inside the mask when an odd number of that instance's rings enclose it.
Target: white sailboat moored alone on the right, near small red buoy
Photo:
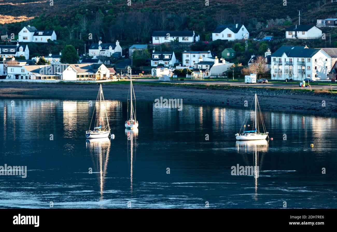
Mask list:
[[[240,132],[235,134],[235,137],[237,140],[265,140],[268,136],[269,132],[266,132],[266,127],[262,118],[262,113],[261,113],[261,109],[260,109],[260,105],[258,104],[257,101],[257,96],[255,93],[254,96],[254,102],[255,102],[255,121],[254,121],[254,125],[253,125],[253,130],[246,130],[246,124],[248,121],[248,117],[247,119],[243,122],[243,132],[241,133],[241,129],[242,126],[240,128]],[[251,106],[252,107],[252,106]],[[250,109],[251,109],[250,107]],[[259,131],[259,126],[258,126],[258,114],[257,114],[257,108],[259,109],[259,116],[261,117],[261,122],[262,122],[262,128],[264,130],[264,133],[260,133]],[[249,125],[248,125],[249,127]]]

